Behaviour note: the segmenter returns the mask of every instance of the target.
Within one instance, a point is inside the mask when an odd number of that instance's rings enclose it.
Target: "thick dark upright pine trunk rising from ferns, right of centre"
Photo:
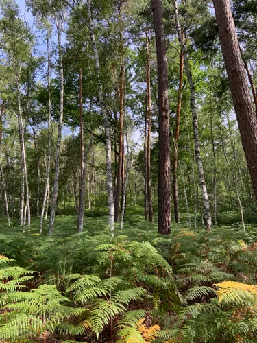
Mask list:
[[[169,91],[167,54],[160,0],[151,0],[156,34],[159,109],[158,233],[171,232],[171,163],[169,141]]]

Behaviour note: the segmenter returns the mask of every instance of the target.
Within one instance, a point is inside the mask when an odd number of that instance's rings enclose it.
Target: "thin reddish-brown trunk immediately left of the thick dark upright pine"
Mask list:
[[[153,203],[151,201],[151,65],[148,32],[146,33],[147,50],[147,114],[148,114],[148,134],[147,134],[147,200],[149,210],[149,222],[154,222]]]

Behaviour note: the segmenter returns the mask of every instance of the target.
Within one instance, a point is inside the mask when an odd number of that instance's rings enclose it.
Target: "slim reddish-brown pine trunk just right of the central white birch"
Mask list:
[[[121,13],[120,13],[121,16]],[[117,170],[117,182],[115,189],[115,209],[114,220],[119,222],[119,204],[121,193],[121,181],[123,179],[123,145],[124,145],[124,80],[125,80],[125,65],[124,65],[124,53],[123,53],[123,35],[120,31],[120,45],[121,45],[121,86],[119,91],[120,104],[119,104],[119,158],[118,158],[118,170]]]

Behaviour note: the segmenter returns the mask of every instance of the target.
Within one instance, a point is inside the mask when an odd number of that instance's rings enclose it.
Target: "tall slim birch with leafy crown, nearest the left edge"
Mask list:
[[[25,116],[21,107],[21,80],[26,63],[31,56],[32,35],[19,18],[19,9],[12,0],[1,3],[2,18],[0,22],[1,45],[10,61],[13,72],[13,84],[16,91],[16,114],[19,128],[19,143],[21,150],[21,193],[20,193],[20,224],[27,220],[30,226],[29,181],[27,174],[27,157],[25,151]],[[26,190],[26,193],[25,193]],[[26,194],[26,195],[25,195]]]

